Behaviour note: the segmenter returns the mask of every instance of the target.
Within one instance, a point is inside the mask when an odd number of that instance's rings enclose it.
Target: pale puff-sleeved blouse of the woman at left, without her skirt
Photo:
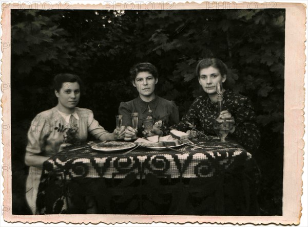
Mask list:
[[[91,110],[76,107],[75,114],[79,118],[75,119],[75,122],[78,126],[80,141],[86,141],[88,132],[98,140],[101,135],[109,133],[94,119]],[[70,127],[56,107],[39,113],[33,119],[28,131],[26,152],[48,157],[56,154],[64,142],[67,129]]]

